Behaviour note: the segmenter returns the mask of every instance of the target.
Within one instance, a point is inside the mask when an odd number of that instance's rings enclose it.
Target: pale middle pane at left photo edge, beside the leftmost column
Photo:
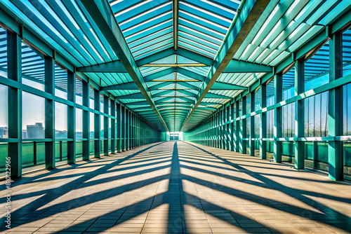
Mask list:
[[[8,87],[5,85],[0,85],[0,138],[8,138]]]

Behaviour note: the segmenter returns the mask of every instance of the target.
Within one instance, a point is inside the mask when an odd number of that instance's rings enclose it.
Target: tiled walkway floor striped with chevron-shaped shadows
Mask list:
[[[27,174],[12,200],[3,233],[351,233],[350,184],[186,142]]]

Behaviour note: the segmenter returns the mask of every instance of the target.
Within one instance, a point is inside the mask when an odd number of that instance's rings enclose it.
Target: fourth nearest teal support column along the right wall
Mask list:
[[[261,95],[260,104],[261,109],[267,107],[267,85],[260,85]],[[267,142],[263,138],[267,137],[267,112],[260,113],[260,159],[267,158]]]

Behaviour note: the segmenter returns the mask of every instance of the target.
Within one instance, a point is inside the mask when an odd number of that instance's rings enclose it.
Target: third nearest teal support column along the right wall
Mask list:
[[[282,74],[274,75],[274,104],[282,102],[283,77]],[[282,142],[277,138],[282,137],[282,106],[274,109],[274,162],[282,163]]]

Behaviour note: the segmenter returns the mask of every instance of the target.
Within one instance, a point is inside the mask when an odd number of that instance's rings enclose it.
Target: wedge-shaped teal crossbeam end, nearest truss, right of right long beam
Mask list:
[[[246,62],[241,60],[230,60],[223,73],[254,73],[254,72],[272,72],[273,67]]]

